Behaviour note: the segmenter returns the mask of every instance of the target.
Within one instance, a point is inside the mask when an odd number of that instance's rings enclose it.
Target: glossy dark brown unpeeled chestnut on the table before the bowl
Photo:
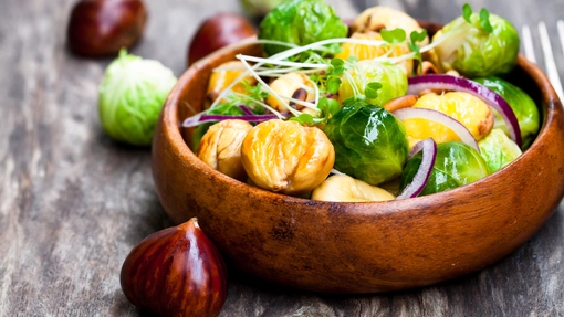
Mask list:
[[[196,218],[156,232],[122,266],[122,290],[132,304],[161,316],[217,316],[227,297],[221,255]]]

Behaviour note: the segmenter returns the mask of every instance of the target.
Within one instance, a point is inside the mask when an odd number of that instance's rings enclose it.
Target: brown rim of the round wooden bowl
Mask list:
[[[428,22],[429,23],[429,22]],[[432,24],[432,22],[430,22]],[[238,181],[233,178],[230,178],[218,170],[206,165],[201,161],[196,154],[189,148],[188,144],[185,141],[181,134],[181,121],[182,119],[178,118],[178,107],[180,106],[181,97],[186,94],[185,89],[188,86],[188,83],[197,76],[197,74],[202,71],[208,64],[213,61],[221,59],[224,55],[234,54],[238,51],[249,50],[252,45],[259,45],[253,42],[253,36],[243,40],[239,43],[224,46],[210,55],[197,61],[194,63],[178,80],[175,87],[171,89],[168,95],[165,105],[161,112],[161,123],[163,123],[163,134],[169,140],[174,150],[185,162],[189,162],[194,165],[195,168],[200,169],[203,173],[208,175],[210,178],[219,179],[220,181],[227,182],[227,184],[231,187],[239,188],[242,190],[241,194],[246,194],[249,197],[261,197],[262,199],[271,199],[271,200],[283,200],[284,203],[296,203],[296,204],[309,204],[314,202],[316,207],[321,208],[331,208],[335,204],[343,207],[355,207],[347,209],[347,212],[352,213],[389,213],[389,212],[401,212],[404,210],[415,210],[420,208],[421,205],[432,205],[437,200],[449,199],[452,196],[457,196],[459,192],[463,191],[472,191],[474,188],[480,187],[483,182],[491,181],[492,178],[503,179],[509,177],[511,173],[512,167],[516,165],[521,165],[522,161],[533,155],[535,151],[542,150],[542,144],[547,138],[549,127],[553,125],[557,125],[557,117],[562,117],[563,108],[561,101],[558,99],[556,92],[554,91],[552,84],[550,83],[546,75],[542,72],[542,70],[534,63],[526,60],[523,54],[519,54],[515,67],[520,67],[536,85],[540,91],[541,99],[536,99],[535,104],[539,107],[540,115],[542,118],[542,125],[540,127],[539,134],[531,146],[515,160],[513,160],[508,166],[502,169],[478,180],[472,183],[461,186],[455,189],[450,189],[447,191],[416,197],[410,199],[403,200],[390,200],[390,201],[374,201],[374,202],[331,202],[331,201],[316,201],[305,198],[292,197],[282,193],[271,192],[258,187],[253,187],[247,184],[244,182]],[[382,208],[359,208],[359,207],[382,207]]]

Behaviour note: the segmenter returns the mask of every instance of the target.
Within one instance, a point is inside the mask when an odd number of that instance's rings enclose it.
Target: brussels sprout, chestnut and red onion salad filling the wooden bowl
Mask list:
[[[428,44],[416,20],[388,8],[363,12],[346,38],[324,1],[281,3],[259,33],[270,57],[239,54],[213,104],[186,119],[197,127],[194,150],[220,170],[223,144],[230,158],[240,154],[248,178],[241,169],[231,177],[324,201],[407,199],[498,171],[522,154],[521,135],[523,148],[534,139],[539,112],[523,91],[493,77],[515,65],[513,27],[484,9],[463,12]],[[422,62],[482,78],[415,76]],[[208,130],[231,119],[250,123],[237,129],[242,142],[222,141],[221,126]]]

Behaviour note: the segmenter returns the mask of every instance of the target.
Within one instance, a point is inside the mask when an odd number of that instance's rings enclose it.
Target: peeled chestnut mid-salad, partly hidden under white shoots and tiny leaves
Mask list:
[[[304,87],[311,88],[313,91],[313,85],[310,82],[310,78],[302,74],[302,73],[288,73],[284,74],[276,80],[274,80],[272,83],[270,83],[270,87],[274,93],[276,93],[279,96],[283,97],[283,99],[288,99],[289,97],[292,97],[297,89],[304,89]],[[313,94],[307,93],[305,99],[309,101],[313,99]],[[288,109],[284,107],[284,105],[272,94],[269,95],[267,98],[267,104],[269,106],[273,107],[274,109],[279,112],[288,112]],[[289,103],[290,104],[290,103]]]

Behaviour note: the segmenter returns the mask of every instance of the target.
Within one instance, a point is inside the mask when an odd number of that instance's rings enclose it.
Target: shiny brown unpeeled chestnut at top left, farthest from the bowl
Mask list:
[[[69,45],[88,57],[116,54],[137,42],[146,20],[140,0],[82,0],[71,12]]]

